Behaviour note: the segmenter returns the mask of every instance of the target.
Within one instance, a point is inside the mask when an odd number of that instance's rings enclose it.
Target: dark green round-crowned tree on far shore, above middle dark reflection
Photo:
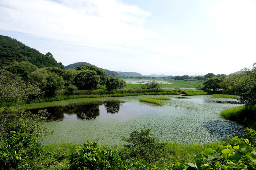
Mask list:
[[[100,76],[94,70],[83,70],[76,75],[74,82],[80,90],[95,90],[100,84]]]

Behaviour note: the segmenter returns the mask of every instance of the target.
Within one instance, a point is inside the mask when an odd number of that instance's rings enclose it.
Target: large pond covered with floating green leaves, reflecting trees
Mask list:
[[[46,127],[54,131],[43,143],[78,142],[101,137],[101,143],[119,144],[121,136],[139,128],[151,129],[162,141],[206,143],[234,137],[244,127],[220,117],[223,109],[240,106],[234,99],[211,98],[210,95],[178,96],[164,101],[164,106],[139,102],[139,97],[84,98],[34,103],[23,108],[47,108],[51,113]],[[36,108],[36,109],[35,109]]]

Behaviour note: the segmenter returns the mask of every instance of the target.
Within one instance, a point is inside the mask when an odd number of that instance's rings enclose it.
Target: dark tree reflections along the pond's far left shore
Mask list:
[[[88,103],[79,103],[79,104],[70,104],[66,106],[55,106],[47,107],[40,109],[29,109],[33,114],[37,114],[39,110],[47,109],[47,112],[50,113],[48,121],[54,120],[64,120],[69,119],[69,115],[76,114],[77,119],[87,120],[87,119],[96,119],[100,115],[100,106],[104,106],[107,113],[118,113],[120,106],[125,102],[122,101],[106,101],[102,103],[88,104]]]

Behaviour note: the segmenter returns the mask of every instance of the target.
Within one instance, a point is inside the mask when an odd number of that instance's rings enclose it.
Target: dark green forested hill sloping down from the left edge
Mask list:
[[[62,63],[57,62],[50,52],[47,55],[43,55],[36,49],[28,47],[16,39],[0,35],[0,66],[9,65],[13,61],[31,62],[37,67],[57,66],[64,68]]]

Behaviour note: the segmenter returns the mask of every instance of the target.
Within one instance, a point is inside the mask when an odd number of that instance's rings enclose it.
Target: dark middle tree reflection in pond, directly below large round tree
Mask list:
[[[100,115],[99,104],[85,104],[76,106],[76,115],[79,119],[95,119]]]

